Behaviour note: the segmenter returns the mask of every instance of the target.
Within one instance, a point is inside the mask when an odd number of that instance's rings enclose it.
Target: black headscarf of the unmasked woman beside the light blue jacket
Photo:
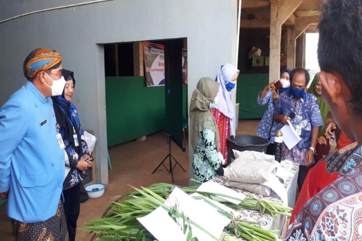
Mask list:
[[[66,81],[73,79],[73,86],[75,87],[74,73],[70,70],[63,69],[62,74]],[[64,87],[64,89],[65,89],[65,87]],[[53,96],[51,99],[53,101],[53,108],[54,108],[54,112],[55,112],[56,122],[65,129],[65,135],[64,135],[63,139],[66,139],[71,143],[71,145],[73,146],[73,149],[78,154],[78,160],[79,160],[83,154],[81,151],[82,142],[81,142],[80,130],[79,130],[78,125],[76,124],[75,120],[72,118],[72,113],[70,110],[71,103],[64,98],[64,89],[63,89],[61,96],[60,95]],[[71,123],[71,121],[73,121],[73,123]],[[74,134],[73,128],[75,130],[75,133],[77,134],[78,143],[79,143],[78,146],[75,146],[75,141],[74,141],[74,137],[73,137],[73,134]]]

